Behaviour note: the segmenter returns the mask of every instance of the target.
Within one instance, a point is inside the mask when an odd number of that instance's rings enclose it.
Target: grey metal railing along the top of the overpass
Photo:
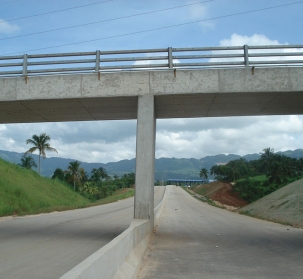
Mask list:
[[[169,47],[0,56],[0,77],[135,69],[274,65],[303,66],[303,45]]]

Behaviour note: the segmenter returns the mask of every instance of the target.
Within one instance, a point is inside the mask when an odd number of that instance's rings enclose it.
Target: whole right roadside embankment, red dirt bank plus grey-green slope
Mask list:
[[[303,228],[303,179],[297,180],[251,204],[238,197],[229,183],[216,181],[193,189],[229,210],[268,221]]]

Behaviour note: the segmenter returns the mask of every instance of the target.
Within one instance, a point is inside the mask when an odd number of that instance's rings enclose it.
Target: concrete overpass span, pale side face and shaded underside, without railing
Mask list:
[[[156,118],[302,114],[302,80],[302,67],[0,78],[0,123],[136,119],[143,95]]]

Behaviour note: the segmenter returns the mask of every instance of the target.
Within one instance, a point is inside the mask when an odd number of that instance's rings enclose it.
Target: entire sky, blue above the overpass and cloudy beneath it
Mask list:
[[[0,0],[0,56],[167,47],[303,44],[303,1]],[[0,149],[83,162],[135,157],[136,121],[0,124]],[[303,116],[157,120],[156,158],[203,158],[303,148]]]

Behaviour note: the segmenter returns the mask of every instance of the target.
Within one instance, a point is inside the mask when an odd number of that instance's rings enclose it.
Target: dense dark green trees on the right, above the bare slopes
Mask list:
[[[302,177],[303,159],[289,158],[266,148],[258,160],[243,158],[215,165],[210,173],[219,180],[234,182],[239,196],[253,202]]]

